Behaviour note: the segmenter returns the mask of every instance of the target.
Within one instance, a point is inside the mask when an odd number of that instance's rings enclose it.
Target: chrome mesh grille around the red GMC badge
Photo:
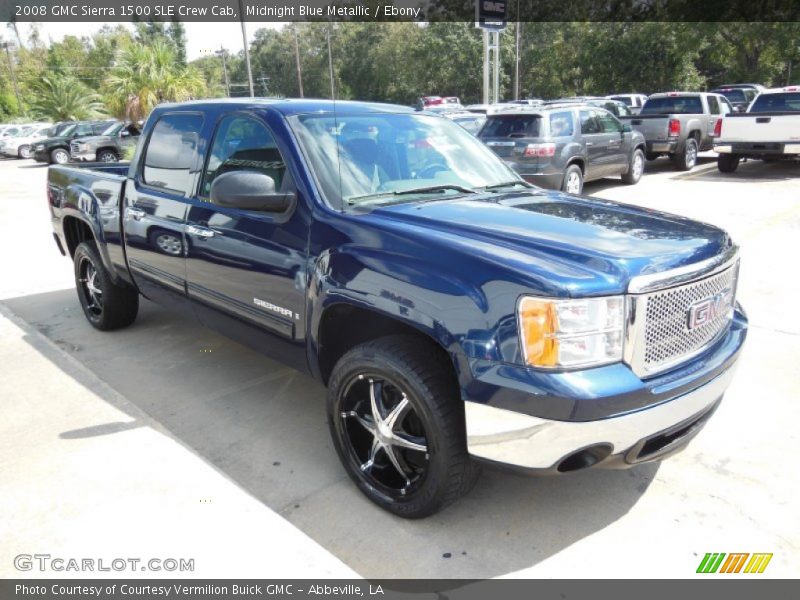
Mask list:
[[[738,263],[725,271],[682,286],[647,294],[645,299],[642,367],[648,374],[697,354],[727,328],[735,302]],[[692,307],[729,290],[731,310],[723,310],[702,325],[689,328]]]

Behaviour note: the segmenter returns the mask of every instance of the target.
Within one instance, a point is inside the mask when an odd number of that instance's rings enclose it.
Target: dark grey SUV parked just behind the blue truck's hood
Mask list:
[[[644,172],[644,136],[588,104],[495,113],[478,138],[526,181],[570,194],[602,177],[621,175],[625,183],[638,183]]]

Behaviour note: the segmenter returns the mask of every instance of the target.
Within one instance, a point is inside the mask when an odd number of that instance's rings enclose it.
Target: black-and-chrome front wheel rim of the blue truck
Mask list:
[[[369,407],[362,407],[364,399],[354,401],[352,398],[351,394],[357,384],[368,386]],[[381,390],[393,389],[399,393],[398,402],[387,409],[385,394],[378,392],[380,397],[376,396],[376,384],[380,384]],[[400,385],[385,375],[358,373],[350,377],[342,389],[335,415],[336,430],[353,472],[373,491],[390,500],[398,501],[410,497],[426,479],[433,452],[428,433],[418,416],[416,418],[419,419],[422,435],[402,430],[406,419],[417,413],[415,403]],[[353,402],[350,406],[349,403]],[[377,418],[374,417],[376,414]],[[360,453],[356,448],[359,444],[356,443],[355,432],[360,432],[366,438],[372,436],[371,442],[368,439],[365,440],[367,443],[362,441]],[[424,444],[419,443],[420,439]],[[364,452],[367,445],[370,447]],[[417,460],[413,461],[413,465],[409,465],[408,453],[416,455]],[[421,457],[424,457],[422,468],[417,464]],[[393,485],[392,480],[398,483]]]

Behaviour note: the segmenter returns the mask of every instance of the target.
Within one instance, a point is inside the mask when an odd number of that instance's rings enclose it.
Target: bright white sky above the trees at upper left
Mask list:
[[[42,40],[58,42],[65,35],[91,35],[104,24],[49,22],[39,23],[38,26]],[[130,23],[123,24],[132,28]],[[109,25],[115,26],[116,23],[109,23]],[[220,46],[224,46],[233,54],[242,50],[242,27],[239,23],[184,23],[183,25],[186,28],[186,57],[189,60],[208,56],[215,50],[219,50]],[[26,41],[32,23],[18,23],[17,26],[23,41]],[[282,24],[248,22],[247,39],[252,40],[256,29],[262,27],[279,29]]]

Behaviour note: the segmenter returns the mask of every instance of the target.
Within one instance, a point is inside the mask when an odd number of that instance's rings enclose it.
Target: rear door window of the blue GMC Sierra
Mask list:
[[[144,155],[142,181],[186,195],[192,189],[192,166],[203,117],[168,114],[158,120]]]

